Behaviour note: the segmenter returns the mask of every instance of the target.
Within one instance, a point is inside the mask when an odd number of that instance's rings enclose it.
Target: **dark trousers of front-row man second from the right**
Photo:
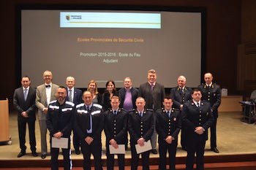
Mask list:
[[[177,142],[159,142],[159,170],[166,170],[166,154],[169,153],[169,169],[175,170]]]

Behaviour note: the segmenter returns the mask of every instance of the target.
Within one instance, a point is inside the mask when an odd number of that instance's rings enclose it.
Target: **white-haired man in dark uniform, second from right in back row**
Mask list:
[[[186,77],[179,76],[178,86],[170,90],[170,97],[173,100],[173,107],[182,111],[184,102],[191,101],[191,95],[192,89],[186,86]],[[181,147],[183,150],[187,150],[185,138],[186,131],[184,127],[181,126]]]

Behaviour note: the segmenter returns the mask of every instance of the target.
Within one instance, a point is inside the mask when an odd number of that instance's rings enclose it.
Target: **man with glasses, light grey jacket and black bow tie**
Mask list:
[[[46,114],[48,112],[48,104],[50,101],[56,100],[56,92],[59,88],[58,85],[53,84],[53,74],[46,70],[42,77],[45,81],[44,84],[37,86],[37,97],[36,97],[36,106],[38,108],[38,120],[41,133],[41,158],[45,159],[47,155],[47,142],[46,142]]]

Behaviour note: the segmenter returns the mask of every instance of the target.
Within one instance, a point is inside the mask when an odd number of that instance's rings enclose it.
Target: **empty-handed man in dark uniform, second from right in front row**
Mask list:
[[[166,170],[166,153],[169,152],[169,169],[175,170],[178,132],[181,129],[181,113],[174,109],[170,96],[163,102],[165,108],[157,110],[156,130],[159,144],[159,170]]]

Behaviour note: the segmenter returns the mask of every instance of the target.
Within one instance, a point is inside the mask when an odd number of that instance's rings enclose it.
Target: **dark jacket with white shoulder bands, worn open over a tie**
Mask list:
[[[87,133],[87,123],[92,118],[92,133]],[[74,128],[81,142],[85,142],[87,136],[92,137],[94,140],[101,140],[102,130],[105,123],[104,113],[102,106],[99,104],[93,104],[90,112],[86,110],[85,104],[78,104],[75,108],[75,122]]]

